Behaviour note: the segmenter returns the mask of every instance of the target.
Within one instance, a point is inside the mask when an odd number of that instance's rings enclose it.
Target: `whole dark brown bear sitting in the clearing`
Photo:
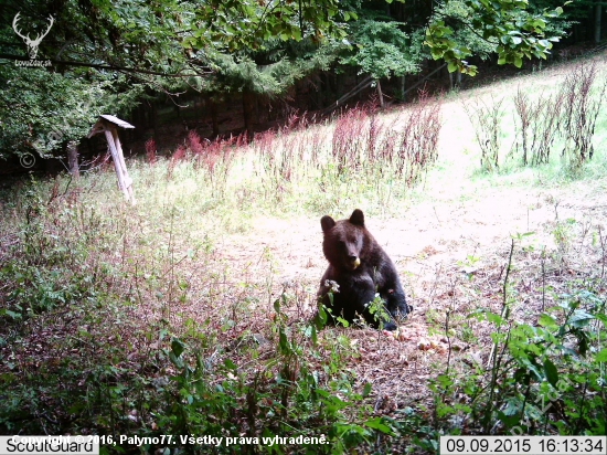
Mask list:
[[[318,297],[331,310],[329,320],[342,317],[351,322],[360,315],[370,326],[382,326],[370,311],[370,304],[379,295],[390,313],[383,328],[395,330],[394,318],[406,316],[413,308],[406,303],[396,267],[364,226],[363,212],[356,209],[349,220],[337,222],[322,216],[320,225],[329,267],[320,281]]]

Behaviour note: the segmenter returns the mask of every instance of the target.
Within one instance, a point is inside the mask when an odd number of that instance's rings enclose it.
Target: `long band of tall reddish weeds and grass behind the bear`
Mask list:
[[[332,124],[299,120],[257,134],[251,142],[241,136],[207,141],[191,131],[156,184],[170,180],[172,188],[195,187],[196,200],[249,213],[279,214],[285,207],[287,213],[320,213],[344,200],[380,210],[435,162],[439,110],[440,103],[427,97],[387,117],[360,107]],[[187,194],[183,189],[181,197]]]

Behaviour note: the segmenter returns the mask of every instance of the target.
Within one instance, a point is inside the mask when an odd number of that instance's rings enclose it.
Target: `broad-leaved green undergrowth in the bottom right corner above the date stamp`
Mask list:
[[[545,285],[543,252],[539,257],[542,287],[536,289],[542,308],[525,311],[518,298],[520,283],[513,283],[520,278],[511,275],[514,248],[513,240],[501,308],[481,304],[470,315],[491,334],[489,357],[484,362],[448,362],[432,381],[437,427],[449,434],[603,435],[607,422],[605,276],[571,281],[560,293]],[[458,337],[455,327],[460,326],[449,325],[454,316],[448,311],[444,325],[450,338]]]

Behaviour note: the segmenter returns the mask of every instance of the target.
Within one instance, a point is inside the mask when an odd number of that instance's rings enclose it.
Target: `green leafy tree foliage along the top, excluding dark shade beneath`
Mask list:
[[[62,155],[100,112],[128,115],[145,94],[242,93],[246,106],[247,96],[285,94],[336,65],[376,80],[415,74],[428,51],[450,71],[475,73],[472,54],[520,66],[547,55],[562,33],[551,24],[560,12],[524,0],[10,0],[0,9],[0,156]],[[31,62],[12,28],[18,13],[32,39],[53,18],[38,54],[49,66],[21,65]],[[49,140],[57,130],[62,140]]]

